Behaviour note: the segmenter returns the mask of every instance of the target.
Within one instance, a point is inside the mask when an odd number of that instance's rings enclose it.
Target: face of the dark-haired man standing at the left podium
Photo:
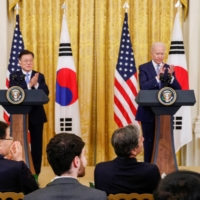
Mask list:
[[[33,68],[33,61],[33,56],[31,54],[26,54],[21,57],[19,64],[25,72],[30,72]]]

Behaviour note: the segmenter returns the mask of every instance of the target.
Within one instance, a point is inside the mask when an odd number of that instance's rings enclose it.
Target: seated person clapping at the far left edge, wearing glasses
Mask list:
[[[11,154],[12,160],[5,157]],[[26,164],[22,161],[22,146],[13,142],[9,126],[0,121],[0,192],[28,194],[38,185]]]

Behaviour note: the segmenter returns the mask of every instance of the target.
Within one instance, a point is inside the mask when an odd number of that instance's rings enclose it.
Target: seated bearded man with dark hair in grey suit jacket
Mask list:
[[[105,192],[86,187],[77,180],[77,177],[85,175],[87,160],[84,145],[77,135],[55,135],[48,143],[46,153],[49,164],[57,176],[45,188],[28,194],[24,200],[106,200]]]

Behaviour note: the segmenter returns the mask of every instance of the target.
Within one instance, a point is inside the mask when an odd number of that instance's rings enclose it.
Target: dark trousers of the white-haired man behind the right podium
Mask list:
[[[151,162],[154,145],[155,135],[155,121],[154,122],[142,122],[142,132],[144,137],[144,162]]]

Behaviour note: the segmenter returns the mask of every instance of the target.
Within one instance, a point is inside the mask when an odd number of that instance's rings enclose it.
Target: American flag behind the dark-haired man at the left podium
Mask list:
[[[10,52],[10,59],[8,63],[8,70],[6,75],[6,89],[9,87],[9,76],[11,73],[20,70],[20,65],[18,63],[18,54],[24,49],[24,42],[22,34],[19,27],[19,15],[16,15],[16,24],[13,34],[12,47]],[[4,120],[9,123],[9,114],[4,111],[3,113]]]

